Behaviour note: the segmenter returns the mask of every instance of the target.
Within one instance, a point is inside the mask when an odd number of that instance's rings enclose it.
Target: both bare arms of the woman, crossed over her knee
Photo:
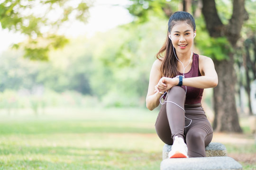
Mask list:
[[[149,110],[155,109],[159,105],[161,92],[168,91],[175,85],[178,85],[178,78],[162,77],[160,60],[155,60],[149,77],[148,92],[146,96],[146,107]],[[200,56],[199,69],[202,76],[183,78],[183,85],[196,88],[212,88],[218,85],[218,75],[214,68],[212,59]]]

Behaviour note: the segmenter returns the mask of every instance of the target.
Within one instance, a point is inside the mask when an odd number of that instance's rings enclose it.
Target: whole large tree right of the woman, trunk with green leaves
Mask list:
[[[159,11],[161,8],[161,4],[165,3],[164,7],[170,7],[169,11],[176,9],[171,2],[167,2],[167,0],[131,0],[133,1],[132,7],[136,5],[141,8],[142,11]],[[153,6],[153,4],[157,3],[158,8]],[[195,4],[200,4],[197,0],[183,0],[183,10],[188,10],[187,7],[191,6],[195,8]],[[181,2],[181,1],[180,1]],[[177,1],[175,1],[177,3]],[[145,7],[145,4],[147,8]],[[173,4],[173,5],[172,5]],[[241,28],[245,20],[248,19],[248,14],[245,9],[245,0],[234,0],[232,2],[233,12],[231,13],[231,18],[227,20],[227,24],[223,24],[221,21],[222,18],[219,17],[216,2],[215,0],[202,0],[202,14],[204,16],[204,21],[206,24],[205,30],[210,34],[210,37],[205,36],[203,42],[197,42],[197,46],[201,50],[205,50],[205,54],[207,51],[209,53],[209,57],[211,57],[215,62],[215,67],[219,76],[219,85],[214,88],[214,111],[215,111],[215,119],[213,123],[213,127],[216,131],[227,131],[227,132],[241,132],[241,127],[238,122],[238,112],[236,109],[235,102],[235,84],[236,84],[236,76],[234,70],[234,48],[236,43],[240,37]],[[153,8],[154,7],[154,8]],[[129,8],[128,8],[129,9]],[[143,17],[146,15],[146,12],[138,12],[136,13],[134,10],[129,9],[130,13],[137,16]],[[167,9],[165,9],[166,11]],[[194,9],[193,12],[197,10]],[[164,10],[163,10],[164,11]],[[164,13],[165,13],[164,11]],[[167,10],[168,11],[168,10]],[[225,12],[225,11],[224,11]],[[149,13],[149,12],[147,12]],[[140,15],[138,15],[140,14]],[[142,15],[143,14],[143,15]],[[166,16],[166,15],[165,15]],[[204,31],[204,30],[202,30]],[[208,41],[209,40],[209,41]],[[207,42],[207,43],[206,43]],[[204,43],[204,44],[203,44]],[[207,47],[208,49],[204,49]],[[214,51],[217,49],[217,51]],[[210,51],[210,52],[209,52]]]

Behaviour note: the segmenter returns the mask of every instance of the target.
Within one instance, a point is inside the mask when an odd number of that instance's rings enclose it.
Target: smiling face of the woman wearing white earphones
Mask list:
[[[186,53],[192,51],[194,33],[192,26],[185,21],[180,21],[173,26],[170,35],[176,52]]]

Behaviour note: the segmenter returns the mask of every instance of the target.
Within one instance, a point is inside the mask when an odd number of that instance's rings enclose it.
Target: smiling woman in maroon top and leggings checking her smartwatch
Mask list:
[[[195,36],[192,15],[175,12],[150,72],[146,107],[153,110],[162,101],[155,129],[165,144],[172,144],[169,158],[205,157],[212,139],[201,98],[204,88],[218,85],[218,76],[209,57],[192,52]]]

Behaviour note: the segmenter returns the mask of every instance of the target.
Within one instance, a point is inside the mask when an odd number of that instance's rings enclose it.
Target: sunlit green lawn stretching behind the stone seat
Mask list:
[[[0,170],[159,170],[156,117],[144,109],[0,110]],[[256,157],[252,136],[244,137],[249,143],[224,141],[228,153]],[[255,161],[239,162],[256,169]]]

